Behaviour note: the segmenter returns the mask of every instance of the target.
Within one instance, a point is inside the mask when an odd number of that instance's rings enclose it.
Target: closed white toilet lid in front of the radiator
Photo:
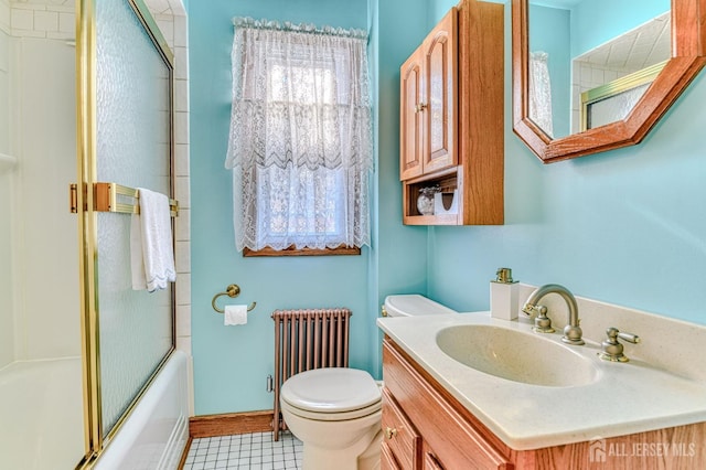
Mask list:
[[[325,367],[292,375],[282,384],[281,399],[315,413],[343,413],[381,400],[377,383],[357,368]]]

